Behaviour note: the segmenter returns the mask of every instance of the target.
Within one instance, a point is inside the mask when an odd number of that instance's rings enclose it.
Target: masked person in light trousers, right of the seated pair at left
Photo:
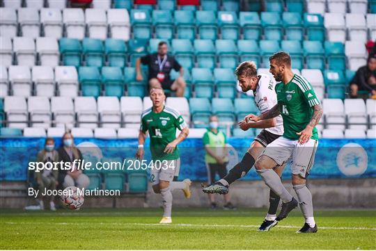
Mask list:
[[[77,147],[75,147],[73,136],[71,133],[64,133],[63,145],[58,149],[59,161],[70,162],[72,170],[59,170],[58,181],[63,184],[63,188],[68,186],[77,186],[78,188],[87,188],[90,180],[73,166],[75,159],[82,160],[82,154]]]

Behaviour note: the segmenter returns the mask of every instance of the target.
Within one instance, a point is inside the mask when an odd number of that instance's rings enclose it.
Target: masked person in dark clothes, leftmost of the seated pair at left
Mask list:
[[[58,162],[58,152],[54,149],[55,148],[55,141],[53,138],[46,138],[45,140],[45,149],[42,149],[38,152],[37,161],[38,162]],[[45,189],[47,190],[55,190],[56,186],[58,185],[58,170],[47,170],[43,169],[40,172],[35,172],[35,179],[38,184],[38,189],[40,197],[38,197],[38,203],[40,209],[45,209],[43,203],[43,195]],[[56,207],[54,204],[54,196],[49,197],[49,209],[51,211],[56,211]]]

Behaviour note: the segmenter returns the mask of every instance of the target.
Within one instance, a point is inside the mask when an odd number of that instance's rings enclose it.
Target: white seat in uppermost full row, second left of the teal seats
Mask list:
[[[107,16],[102,9],[86,9],[85,20],[89,38],[105,40],[107,38]]]

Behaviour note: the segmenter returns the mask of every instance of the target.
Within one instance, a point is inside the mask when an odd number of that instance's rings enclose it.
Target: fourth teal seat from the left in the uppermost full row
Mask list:
[[[196,11],[196,24],[200,39],[217,39],[217,18],[212,10]]]

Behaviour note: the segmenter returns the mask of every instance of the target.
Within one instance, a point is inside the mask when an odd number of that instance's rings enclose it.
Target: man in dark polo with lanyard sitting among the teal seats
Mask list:
[[[167,55],[166,42],[159,42],[158,51],[148,54],[136,60],[136,80],[143,81],[141,63],[148,65],[149,88],[163,88],[164,90],[176,91],[176,96],[183,97],[185,91],[184,69],[173,56]],[[177,79],[171,79],[171,70],[179,71]]]

